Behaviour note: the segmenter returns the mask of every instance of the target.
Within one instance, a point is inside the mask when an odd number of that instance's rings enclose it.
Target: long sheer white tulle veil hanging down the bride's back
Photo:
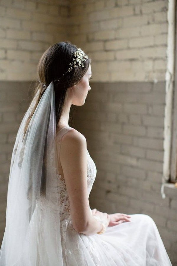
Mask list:
[[[1,266],[63,265],[53,82],[42,95],[24,136],[36,97],[24,115],[12,152]]]

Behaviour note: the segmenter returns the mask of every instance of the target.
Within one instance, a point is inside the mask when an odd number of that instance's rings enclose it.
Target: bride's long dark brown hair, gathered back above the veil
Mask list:
[[[55,89],[55,117],[56,127],[60,121],[60,117],[65,105],[67,89],[76,85],[84,76],[89,68],[91,59],[85,55],[84,62],[78,64],[77,67],[73,67],[71,71],[68,71],[71,63],[73,62],[73,54],[75,55],[80,48],[70,42],[60,42],[51,45],[41,56],[37,66],[37,84],[33,93],[33,97],[37,94],[36,103],[32,110],[32,113],[27,119],[24,127],[24,135],[27,131],[27,127],[35,112],[35,109],[46,90],[46,87],[51,81],[54,81]],[[81,50],[82,51],[82,50]]]

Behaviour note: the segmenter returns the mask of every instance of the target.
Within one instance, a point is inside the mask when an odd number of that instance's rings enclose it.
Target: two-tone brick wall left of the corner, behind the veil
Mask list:
[[[67,0],[0,1],[0,242],[12,149],[34,88],[31,81],[42,53],[65,40],[67,16]]]

